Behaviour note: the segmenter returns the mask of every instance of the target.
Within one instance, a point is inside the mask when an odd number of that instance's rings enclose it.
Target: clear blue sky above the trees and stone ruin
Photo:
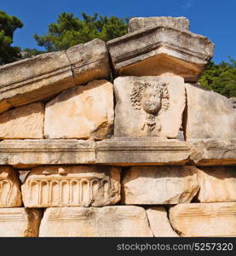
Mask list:
[[[15,15],[24,27],[14,34],[14,45],[37,48],[32,35],[43,35],[63,12],[116,15],[118,17],[185,16],[190,30],[216,45],[213,61],[236,59],[236,0],[0,0],[0,9]]]

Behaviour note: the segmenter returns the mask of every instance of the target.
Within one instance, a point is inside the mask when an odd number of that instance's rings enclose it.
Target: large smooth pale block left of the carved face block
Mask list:
[[[111,137],[113,119],[112,84],[95,80],[63,91],[46,105],[44,134],[101,140]]]

